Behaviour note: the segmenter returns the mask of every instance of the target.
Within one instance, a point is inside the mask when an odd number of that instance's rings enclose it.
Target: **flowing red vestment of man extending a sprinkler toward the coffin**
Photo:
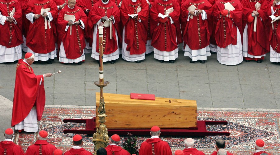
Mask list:
[[[42,79],[41,85],[40,81]],[[12,126],[23,121],[34,105],[37,120],[40,121],[45,106],[45,89],[43,75],[35,75],[33,69],[22,59],[16,66],[16,82],[13,100]]]

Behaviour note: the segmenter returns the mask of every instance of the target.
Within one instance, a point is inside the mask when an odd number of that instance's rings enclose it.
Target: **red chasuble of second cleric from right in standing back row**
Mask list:
[[[258,10],[259,15],[257,16],[257,29],[254,32],[254,20],[248,22],[248,16],[251,16],[253,11],[256,11],[255,4],[261,3],[261,8]],[[248,53],[250,55],[264,55],[269,52],[268,44],[268,4],[266,0],[243,0],[242,5],[244,27],[247,24],[248,34]]]

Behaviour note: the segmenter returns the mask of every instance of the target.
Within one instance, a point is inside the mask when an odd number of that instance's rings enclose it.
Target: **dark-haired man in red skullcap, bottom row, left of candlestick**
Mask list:
[[[74,135],[72,144],[73,147],[69,151],[65,152],[64,155],[92,155],[91,152],[82,148],[83,137],[81,135]]]

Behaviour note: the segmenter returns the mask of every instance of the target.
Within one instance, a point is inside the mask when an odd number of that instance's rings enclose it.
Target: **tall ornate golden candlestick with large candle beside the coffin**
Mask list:
[[[94,143],[94,155],[96,155],[96,150],[98,148],[105,148],[109,143],[108,130],[106,125],[105,117],[105,102],[103,96],[103,87],[107,86],[110,82],[104,81],[103,72],[103,23],[98,24],[98,34],[99,34],[99,81],[94,82],[94,84],[100,87],[100,100],[99,107],[97,109],[100,125],[96,127],[96,133],[93,134],[92,142]],[[97,107],[96,107],[97,108]]]

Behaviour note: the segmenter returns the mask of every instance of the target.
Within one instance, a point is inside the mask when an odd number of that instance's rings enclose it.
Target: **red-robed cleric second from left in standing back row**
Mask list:
[[[27,51],[35,55],[35,61],[52,64],[51,60],[56,57],[56,4],[52,0],[30,0],[24,14],[30,21],[26,36]]]

